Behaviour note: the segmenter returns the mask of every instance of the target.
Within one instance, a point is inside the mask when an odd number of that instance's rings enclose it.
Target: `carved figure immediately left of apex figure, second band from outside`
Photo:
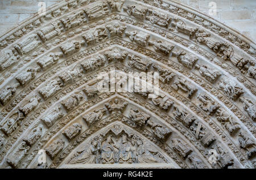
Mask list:
[[[82,37],[84,37],[87,45],[94,45],[108,39],[108,31],[105,27],[98,27],[94,30],[89,30]]]

